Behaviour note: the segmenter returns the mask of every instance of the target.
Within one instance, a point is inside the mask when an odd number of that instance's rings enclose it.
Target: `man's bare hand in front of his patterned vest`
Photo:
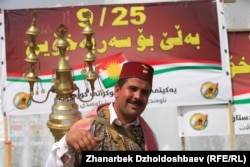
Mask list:
[[[102,139],[94,137],[89,131],[86,130],[72,130],[66,134],[66,142],[79,154],[82,151],[93,151]]]

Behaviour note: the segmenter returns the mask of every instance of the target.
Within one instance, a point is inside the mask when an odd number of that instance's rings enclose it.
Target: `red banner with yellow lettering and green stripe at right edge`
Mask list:
[[[230,68],[234,104],[250,103],[250,31],[229,32]]]

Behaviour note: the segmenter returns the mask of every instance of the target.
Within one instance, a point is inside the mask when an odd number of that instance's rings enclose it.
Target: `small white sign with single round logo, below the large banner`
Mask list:
[[[228,114],[227,105],[179,107],[179,136],[229,135]]]

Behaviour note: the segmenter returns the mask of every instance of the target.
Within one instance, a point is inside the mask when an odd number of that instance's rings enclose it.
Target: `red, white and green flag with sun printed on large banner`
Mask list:
[[[123,53],[98,59],[96,72],[105,88],[110,88],[117,83],[122,65],[126,61]]]

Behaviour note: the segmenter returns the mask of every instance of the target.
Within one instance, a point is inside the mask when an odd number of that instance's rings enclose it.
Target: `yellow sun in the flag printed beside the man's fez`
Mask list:
[[[121,66],[118,62],[112,61],[106,64],[106,70],[110,79],[116,80],[120,75]]]

